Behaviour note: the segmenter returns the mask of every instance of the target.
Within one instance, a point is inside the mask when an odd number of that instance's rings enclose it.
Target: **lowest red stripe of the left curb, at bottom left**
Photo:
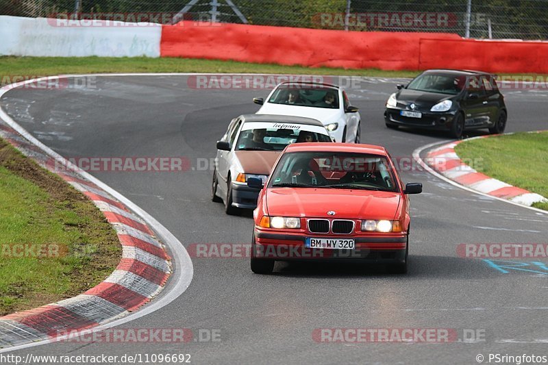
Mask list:
[[[59,331],[66,329],[86,329],[99,325],[88,318],[79,316],[65,307],[44,305],[25,312],[9,314],[2,319],[16,320],[18,323],[31,327],[48,336],[57,336]]]

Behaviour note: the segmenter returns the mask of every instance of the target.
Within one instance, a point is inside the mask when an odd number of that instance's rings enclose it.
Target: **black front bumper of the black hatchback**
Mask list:
[[[399,112],[404,109],[386,108],[384,110],[384,121],[388,125],[403,125],[408,127],[424,128],[424,129],[451,129],[453,118],[456,112],[421,112],[421,118],[411,118],[409,116],[401,116]]]

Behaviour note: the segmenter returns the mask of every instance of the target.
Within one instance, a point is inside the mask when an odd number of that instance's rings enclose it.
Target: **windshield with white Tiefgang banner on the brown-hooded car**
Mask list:
[[[332,142],[325,127],[297,123],[245,123],[236,151],[282,151],[295,142]]]

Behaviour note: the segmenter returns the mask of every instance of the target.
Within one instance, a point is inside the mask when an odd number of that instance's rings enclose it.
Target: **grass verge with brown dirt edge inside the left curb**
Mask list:
[[[119,263],[97,207],[1,139],[0,202],[0,315],[80,294]]]

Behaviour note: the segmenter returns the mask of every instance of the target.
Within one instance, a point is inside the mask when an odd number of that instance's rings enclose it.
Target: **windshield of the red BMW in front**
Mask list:
[[[387,158],[364,153],[286,153],[271,174],[277,186],[399,191]]]

